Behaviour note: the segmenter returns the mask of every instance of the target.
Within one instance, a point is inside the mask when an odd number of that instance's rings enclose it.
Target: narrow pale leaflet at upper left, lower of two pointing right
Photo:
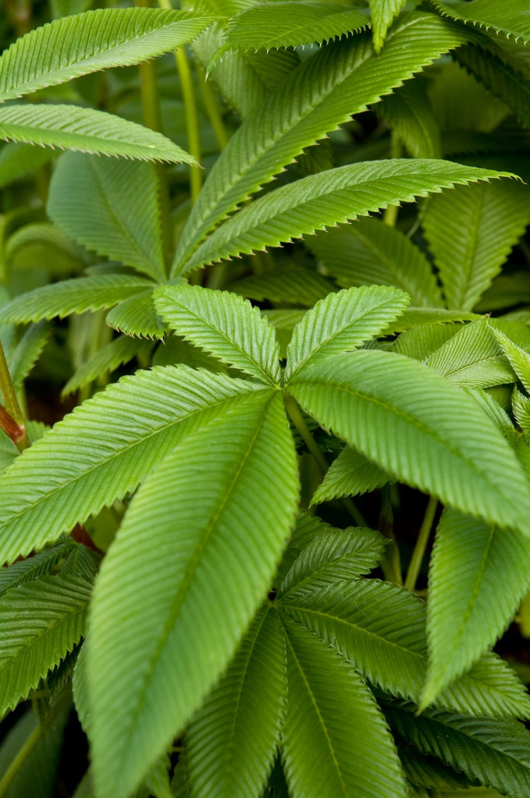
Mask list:
[[[0,108],[0,137],[90,154],[197,165],[193,156],[155,130],[76,105],[5,105]]]

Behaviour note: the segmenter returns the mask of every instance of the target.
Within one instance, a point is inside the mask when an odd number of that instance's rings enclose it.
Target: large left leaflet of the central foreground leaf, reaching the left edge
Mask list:
[[[184,365],[108,385],[0,476],[0,562],[40,549],[134,491],[194,425],[263,390]]]

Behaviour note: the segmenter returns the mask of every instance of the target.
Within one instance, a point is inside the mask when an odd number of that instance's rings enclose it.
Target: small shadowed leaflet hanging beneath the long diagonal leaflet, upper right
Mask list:
[[[440,128],[422,80],[410,81],[383,97],[376,109],[414,158],[441,158]]]

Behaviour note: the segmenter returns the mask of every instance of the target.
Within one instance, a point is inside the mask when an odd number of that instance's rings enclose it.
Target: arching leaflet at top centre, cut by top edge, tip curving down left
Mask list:
[[[229,51],[322,44],[370,24],[362,11],[333,2],[278,0],[273,15],[270,10],[269,3],[261,3],[230,19],[209,69]]]

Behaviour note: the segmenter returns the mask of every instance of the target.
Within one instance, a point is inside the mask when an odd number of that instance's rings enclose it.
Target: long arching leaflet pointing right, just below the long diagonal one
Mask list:
[[[509,176],[508,172],[444,160],[395,159],[351,164],[296,180],[255,200],[198,247],[184,271],[231,256],[279,247],[387,205],[413,202],[455,184]]]

